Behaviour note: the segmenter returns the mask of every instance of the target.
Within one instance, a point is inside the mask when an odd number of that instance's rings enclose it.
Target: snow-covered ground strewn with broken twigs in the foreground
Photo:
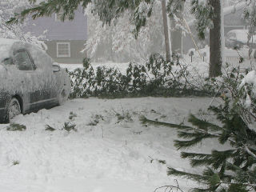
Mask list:
[[[0,125],[0,191],[150,192],[175,185],[175,178],[166,175],[167,166],[190,170],[173,146],[176,130],[142,125],[139,117],[186,122],[188,114],[206,109],[210,101],[74,99],[50,110],[19,115],[14,122],[25,125],[25,131],[7,131],[9,125]],[[71,111],[77,117],[70,119]],[[76,124],[77,131],[63,130],[65,122]],[[46,125],[56,130],[47,131]],[[210,140],[194,150],[212,146],[219,147]],[[152,158],[165,160],[166,165]],[[177,179],[183,190],[194,186]]]

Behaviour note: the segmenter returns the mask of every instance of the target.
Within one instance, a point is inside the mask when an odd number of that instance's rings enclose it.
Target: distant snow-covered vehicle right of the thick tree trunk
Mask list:
[[[256,47],[256,35],[248,42],[249,30],[230,30],[225,37],[225,46],[231,49],[241,49],[244,46]]]

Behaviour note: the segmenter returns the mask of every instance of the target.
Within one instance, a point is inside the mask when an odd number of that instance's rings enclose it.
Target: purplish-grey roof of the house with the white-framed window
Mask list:
[[[42,40],[87,40],[87,17],[82,9],[75,11],[74,20],[56,21],[55,14],[51,17],[29,19],[26,32]]]

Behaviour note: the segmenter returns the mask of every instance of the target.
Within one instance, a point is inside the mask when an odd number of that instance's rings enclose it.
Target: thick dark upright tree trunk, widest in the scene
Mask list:
[[[222,74],[222,0],[210,0],[214,8],[214,28],[210,29],[210,70],[209,77]]]

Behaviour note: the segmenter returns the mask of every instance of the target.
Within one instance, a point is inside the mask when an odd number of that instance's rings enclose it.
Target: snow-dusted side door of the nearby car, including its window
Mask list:
[[[47,89],[43,70],[38,70],[34,60],[26,49],[19,49],[14,52],[14,62],[18,70],[25,74],[23,82],[28,90],[28,109],[26,112],[39,110],[47,107],[50,102],[50,90]]]

